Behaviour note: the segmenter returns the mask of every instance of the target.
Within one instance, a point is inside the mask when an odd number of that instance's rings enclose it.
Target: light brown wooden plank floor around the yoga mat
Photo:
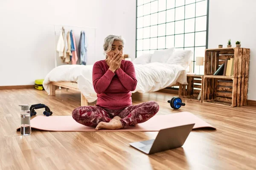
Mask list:
[[[46,132],[20,136],[19,104],[44,103],[54,115],[71,115],[80,93],[56,90],[56,96],[35,89],[0,90],[0,170],[253,170],[256,169],[256,108],[222,107],[184,101],[172,110],[160,92],[133,94],[133,104],[157,101],[157,114],[189,111],[217,130],[192,130],[183,147],[145,155],[130,142],[154,139],[157,132]],[[95,103],[90,103],[93,105]],[[44,110],[37,110],[42,115]],[[61,123],[61,122],[60,122]],[[159,122],[161,123],[161,122]]]

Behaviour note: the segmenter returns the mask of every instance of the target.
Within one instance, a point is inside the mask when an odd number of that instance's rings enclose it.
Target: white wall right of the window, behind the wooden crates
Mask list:
[[[247,99],[256,100],[256,0],[209,0],[208,48],[232,46],[250,48],[250,67]]]

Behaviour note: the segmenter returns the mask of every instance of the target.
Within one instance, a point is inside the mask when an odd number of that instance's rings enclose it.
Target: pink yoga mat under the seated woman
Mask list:
[[[125,127],[119,130],[95,130],[77,123],[72,116],[36,116],[31,121],[31,127],[46,131],[159,131],[160,129],[195,123],[193,129],[211,127],[207,122],[189,112],[172,113],[168,115],[155,115],[146,122],[137,124],[136,127]],[[17,128],[20,130],[20,127]]]

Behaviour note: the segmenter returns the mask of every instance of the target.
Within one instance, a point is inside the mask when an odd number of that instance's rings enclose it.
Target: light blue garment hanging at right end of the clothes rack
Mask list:
[[[81,31],[80,41],[79,41],[79,59],[81,65],[86,65],[87,63],[87,40],[84,31]]]

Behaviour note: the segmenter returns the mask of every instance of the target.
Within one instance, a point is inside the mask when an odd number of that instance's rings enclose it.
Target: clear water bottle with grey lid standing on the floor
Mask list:
[[[29,105],[19,105],[20,106],[20,134],[27,136],[31,134],[31,125],[30,125],[30,110]]]

